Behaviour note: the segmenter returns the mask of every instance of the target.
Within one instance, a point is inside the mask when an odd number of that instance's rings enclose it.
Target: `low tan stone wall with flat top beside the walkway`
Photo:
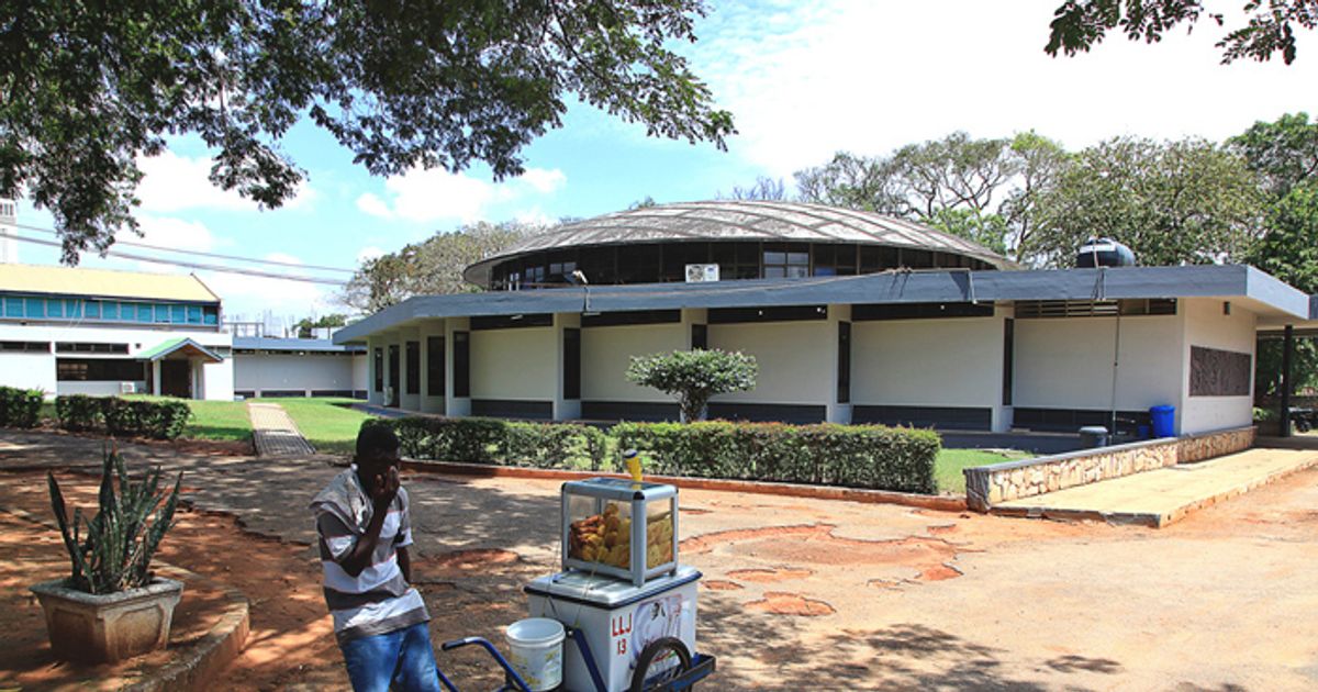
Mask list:
[[[1064,455],[967,468],[966,505],[988,511],[999,502],[1119,478],[1239,452],[1253,446],[1253,426],[1185,438],[1161,438]]]

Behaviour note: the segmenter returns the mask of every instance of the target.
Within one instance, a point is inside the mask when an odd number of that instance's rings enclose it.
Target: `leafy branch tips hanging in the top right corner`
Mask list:
[[[1247,0],[1243,13],[1248,21],[1218,41],[1223,63],[1240,58],[1268,61],[1280,53],[1290,65],[1297,30],[1318,26],[1318,0]],[[1112,30],[1131,41],[1153,43],[1177,25],[1193,28],[1202,18],[1218,26],[1226,24],[1222,12],[1206,9],[1201,0],[1066,0],[1053,13],[1044,50],[1049,55],[1074,55],[1101,43]]]

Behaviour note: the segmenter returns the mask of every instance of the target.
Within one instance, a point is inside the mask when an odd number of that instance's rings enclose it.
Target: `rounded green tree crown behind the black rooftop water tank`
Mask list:
[[[1040,196],[1032,252],[1073,265],[1089,237],[1111,237],[1140,264],[1239,261],[1259,236],[1257,177],[1205,140],[1119,137],[1077,154]]]

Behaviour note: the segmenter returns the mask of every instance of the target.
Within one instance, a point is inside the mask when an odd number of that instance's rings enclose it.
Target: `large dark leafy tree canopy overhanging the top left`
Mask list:
[[[299,121],[376,175],[489,163],[561,124],[568,95],[648,133],[724,145],[731,116],[671,50],[704,0],[43,0],[0,4],[0,196],[50,210],[66,262],[136,229],[138,158],[212,148],[265,207],[304,173]]]

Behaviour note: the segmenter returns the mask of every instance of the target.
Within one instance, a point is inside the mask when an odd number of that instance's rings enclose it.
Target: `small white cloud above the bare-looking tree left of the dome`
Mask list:
[[[567,175],[558,169],[529,169],[500,183],[465,173],[414,169],[385,181],[385,198],[374,192],[357,196],[357,208],[390,220],[469,223],[486,219],[498,204],[551,195],[565,185]]]

